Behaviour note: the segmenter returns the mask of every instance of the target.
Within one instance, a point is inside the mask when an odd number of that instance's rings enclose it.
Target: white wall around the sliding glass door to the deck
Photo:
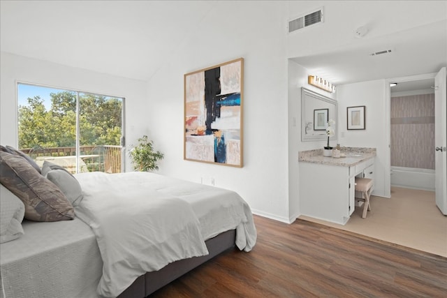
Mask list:
[[[17,82],[125,98],[126,139],[148,132],[146,82],[1,52],[0,144],[17,147]],[[129,156],[126,170],[131,170]]]

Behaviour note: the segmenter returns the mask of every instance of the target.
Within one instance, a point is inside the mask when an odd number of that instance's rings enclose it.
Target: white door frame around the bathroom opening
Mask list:
[[[437,75],[437,73],[425,73],[422,75],[409,75],[407,77],[393,77],[385,80],[386,88],[385,88],[385,117],[386,117],[386,136],[388,137],[388,147],[386,152],[386,161],[384,163],[385,167],[385,186],[384,191],[386,191],[387,198],[391,198],[391,90],[390,83],[400,83],[400,82],[411,82],[418,80],[427,80],[433,79]]]

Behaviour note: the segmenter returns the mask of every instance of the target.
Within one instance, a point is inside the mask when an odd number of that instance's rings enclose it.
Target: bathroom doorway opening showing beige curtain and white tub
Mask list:
[[[390,85],[390,185],[435,190],[434,78]]]

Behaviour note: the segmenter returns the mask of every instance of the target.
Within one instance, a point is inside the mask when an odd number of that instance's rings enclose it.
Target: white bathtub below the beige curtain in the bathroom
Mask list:
[[[434,181],[434,170],[391,166],[391,186],[434,191]]]

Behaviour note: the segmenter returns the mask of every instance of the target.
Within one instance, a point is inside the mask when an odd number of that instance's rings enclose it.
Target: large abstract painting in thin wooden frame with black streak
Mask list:
[[[184,160],[242,167],[244,59],[184,75]]]

